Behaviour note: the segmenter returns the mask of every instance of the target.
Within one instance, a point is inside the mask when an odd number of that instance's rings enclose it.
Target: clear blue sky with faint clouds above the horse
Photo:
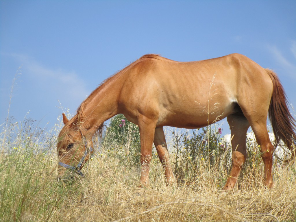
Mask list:
[[[51,128],[59,102],[74,113],[99,83],[147,53],[178,61],[244,54],[275,70],[296,106],[295,12],[294,0],[1,0],[0,124],[20,66],[9,116],[29,112]]]

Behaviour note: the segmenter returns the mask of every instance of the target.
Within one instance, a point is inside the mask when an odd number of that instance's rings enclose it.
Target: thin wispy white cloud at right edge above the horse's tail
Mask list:
[[[276,62],[286,71],[286,74],[290,78],[296,79],[296,61],[289,61],[275,45],[268,45],[267,49],[271,52]],[[292,42],[290,50],[296,59],[296,41]]]

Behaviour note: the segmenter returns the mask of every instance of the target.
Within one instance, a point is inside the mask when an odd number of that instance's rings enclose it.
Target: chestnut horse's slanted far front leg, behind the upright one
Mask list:
[[[165,170],[167,184],[170,185],[176,183],[176,178],[170,164],[170,155],[165,141],[163,127],[155,128],[154,145],[156,147],[160,163],[163,165],[163,169]]]

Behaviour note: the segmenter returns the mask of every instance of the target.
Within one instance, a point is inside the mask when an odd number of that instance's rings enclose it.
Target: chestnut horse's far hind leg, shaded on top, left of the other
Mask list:
[[[246,139],[250,124],[243,114],[231,114],[227,117],[227,121],[232,137],[232,169],[223,189],[231,190],[234,188],[242,165],[247,159]]]

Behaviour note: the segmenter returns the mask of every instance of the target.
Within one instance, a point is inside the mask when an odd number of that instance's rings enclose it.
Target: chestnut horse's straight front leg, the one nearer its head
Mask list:
[[[149,186],[149,170],[152,159],[152,144],[156,124],[146,117],[139,120],[141,138],[141,178],[140,186]]]

